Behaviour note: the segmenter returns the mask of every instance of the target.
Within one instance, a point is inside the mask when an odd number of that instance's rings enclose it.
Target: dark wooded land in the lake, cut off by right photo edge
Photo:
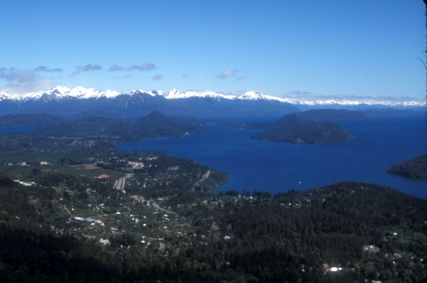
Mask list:
[[[389,168],[387,172],[405,177],[427,179],[427,154],[404,160]]]

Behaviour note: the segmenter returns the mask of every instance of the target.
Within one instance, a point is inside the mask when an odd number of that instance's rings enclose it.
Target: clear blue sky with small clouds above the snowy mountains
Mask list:
[[[1,1],[0,89],[426,90],[421,0]]]

